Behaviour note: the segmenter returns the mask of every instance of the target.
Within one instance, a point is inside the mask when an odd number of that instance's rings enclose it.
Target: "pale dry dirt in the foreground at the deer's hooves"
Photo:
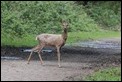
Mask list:
[[[85,63],[62,63],[63,67],[58,68],[56,62],[45,61],[41,66],[40,62],[32,61],[30,65],[26,61],[2,61],[1,80],[8,81],[61,81],[67,76],[81,74]],[[75,66],[75,67],[74,67]],[[89,71],[88,69],[86,72]]]

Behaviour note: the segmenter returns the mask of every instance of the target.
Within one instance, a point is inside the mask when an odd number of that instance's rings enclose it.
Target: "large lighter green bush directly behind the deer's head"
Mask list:
[[[2,31],[12,36],[60,33],[61,21],[70,24],[69,31],[98,30],[82,6],[68,1],[1,1]]]

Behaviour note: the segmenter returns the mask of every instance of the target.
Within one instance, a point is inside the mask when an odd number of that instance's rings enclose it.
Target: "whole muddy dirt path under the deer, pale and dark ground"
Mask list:
[[[106,41],[118,42],[115,39],[107,39]],[[2,55],[9,53],[11,56],[22,57],[20,60],[1,60],[2,81],[82,80],[85,75],[98,68],[121,65],[120,49],[65,46],[61,51],[61,68],[58,68],[55,52],[42,55],[44,61],[42,66],[36,53],[30,64],[27,64],[29,53],[18,53],[17,50],[19,49],[9,49],[7,52],[4,52],[5,49],[1,50]]]

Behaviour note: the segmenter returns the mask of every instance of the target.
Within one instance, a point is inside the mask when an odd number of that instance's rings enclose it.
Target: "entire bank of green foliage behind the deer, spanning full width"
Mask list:
[[[68,32],[91,33],[100,31],[101,26],[118,29],[121,25],[121,4],[113,4],[114,2],[97,2],[94,5],[89,2],[84,8],[74,1],[1,1],[2,45],[8,45],[9,40],[15,42],[12,45],[18,45],[16,41],[23,41],[25,36],[34,45],[34,38],[29,36],[61,33],[62,20],[69,23]]]

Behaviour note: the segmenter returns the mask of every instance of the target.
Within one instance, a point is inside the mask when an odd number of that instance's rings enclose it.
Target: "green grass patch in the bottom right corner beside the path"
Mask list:
[[[101,69],[87,76],[85,81],[121,81],[121,67]]]

